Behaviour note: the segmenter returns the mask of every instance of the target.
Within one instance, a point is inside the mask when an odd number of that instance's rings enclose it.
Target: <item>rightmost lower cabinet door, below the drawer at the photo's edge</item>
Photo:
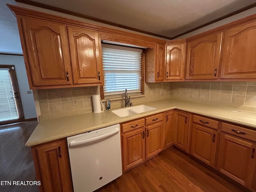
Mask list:
[[[220,134],[217,169],[240,184],[252,188],[256,164],[255,144]]]

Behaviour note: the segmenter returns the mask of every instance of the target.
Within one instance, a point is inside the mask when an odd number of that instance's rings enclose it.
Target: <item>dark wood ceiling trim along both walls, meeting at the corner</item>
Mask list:
[[[50,6],[50,5],[47,5],[47,4],[34,2],[32,0],[15,0],[15,1],[20,2],[20,3],[24,3],[24,4],[28,4],[28,5],[32,5],[32,6],[36,6],[36,7],[40,7],[40,8],[44,8],[44,9],[48,9],[48,10],[52,10],[52,11],[56,11],[56,12],[60,12],[60,13],[64,13],[64,14],[68,14],[68,15],[72,15],[72,16],[76,16],[76,17],[80,17],[80,18],[84,18],[84,19],[88,19],[88,20],[92,20],[92,21],[96,21],[96,22],[100,22],[100,23],[104,23],[104,24],[108,24],[108,25],[112,25],[112,26],[116,26],[116,27],[120,27],[120,28],[124,28],[124,29],[128,29],[128,30],[132,30],[132,31],[136,31],[136,32],[140,32],[140,33],[144,33],[144,34],[148,34],[148,35],[152,35],[152,36],[156,36],[156,37],[160,37],[160,38],[170,39],[170,40],[178,38],[182,35],[188,34],[192,31],[198,30],[200,28],[203,28],[205,26],[208,26],[210,24],[213,24],[215,22],[218,22],[220,20],[223,20],[223,19],[228,18],[230,16],[233,16],[235,14],[238,14],[240,12],[246,11],[250,8],[254,8],[256,6],[256,3],[250,4],[250,5],[248,5],[246,7],[243,7],[239,10],[236,10],[234,12],[226,14],[226,15],[220,17],[220,18],[214,19],[210,22],[207,22],[205,24],[202,24],[200,26],[197,26],[195,28],[187,30],[187,31],[185,31],[181,34],[178,34],[178,35],[173,36],[173,37],[168,37],[168,36],[163,36],[163,35],[160,35],[160,34],[151,33],[151,32],[148,32],[148,31],[140,30],[140,29],[137,29],[137,28],[132,28],[132,27],[129,27],[129,26],[121,25],[121,24],[118,24],[118,23],[102,20],[102,19],[99,19],[99,18],[91,17],[91,16],[88,16],[88,15],[85,15],[85,14],[76,13],[76,12],[69,11],[69,10],[62,9],[62,8],[58,8],[58,7],[55,7],[55,6]]]

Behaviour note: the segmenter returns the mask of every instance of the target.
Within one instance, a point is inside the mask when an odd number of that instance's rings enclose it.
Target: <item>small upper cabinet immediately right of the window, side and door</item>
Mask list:
[[[145,50],[145,82],[164,81],[165,44],[156,43],[155,48]]]

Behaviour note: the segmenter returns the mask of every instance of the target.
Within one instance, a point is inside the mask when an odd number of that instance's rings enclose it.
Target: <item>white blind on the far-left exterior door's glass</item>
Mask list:
[[[0,121],[18,119],[9,68],[0,68]]]

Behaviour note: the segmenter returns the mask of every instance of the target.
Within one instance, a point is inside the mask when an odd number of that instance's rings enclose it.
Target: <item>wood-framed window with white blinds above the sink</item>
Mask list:
[[[102,45],[104,98],[143,94],[142,50]]]

